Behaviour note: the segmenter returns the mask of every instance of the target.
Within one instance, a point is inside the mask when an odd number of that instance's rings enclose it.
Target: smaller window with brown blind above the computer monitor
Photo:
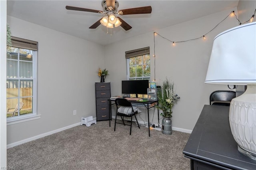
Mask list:
[[[150,82],[150,53],[149,47],[126,51],[128,80],[149,80]],[[134,94],[130,94],[134,97]],[[147,98],[147,95],[138,95]]]

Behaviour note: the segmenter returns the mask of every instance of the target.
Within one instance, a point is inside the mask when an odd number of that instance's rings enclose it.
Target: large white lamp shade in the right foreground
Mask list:
[[[214,38],[205,83],[256,83],[256,22],[231,28]]]

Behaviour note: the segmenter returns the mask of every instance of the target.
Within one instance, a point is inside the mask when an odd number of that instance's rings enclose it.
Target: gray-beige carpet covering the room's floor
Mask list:
[[[7,150],[7,166],[22,170],[188,170],[182,154],[190,136],[140,129],[114,120],[70,128]]]

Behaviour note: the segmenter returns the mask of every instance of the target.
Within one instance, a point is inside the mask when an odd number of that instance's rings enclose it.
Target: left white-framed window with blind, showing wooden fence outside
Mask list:
[[[6,58],[7,121],[36,115],[37,42],[12,37]]]

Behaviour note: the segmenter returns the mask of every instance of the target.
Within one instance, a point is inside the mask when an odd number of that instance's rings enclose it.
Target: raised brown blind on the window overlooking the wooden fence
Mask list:
[[[31,49],[34,51],[38,50],[38,42],[26,40],[23,38],[12,37],[12,47]]]

